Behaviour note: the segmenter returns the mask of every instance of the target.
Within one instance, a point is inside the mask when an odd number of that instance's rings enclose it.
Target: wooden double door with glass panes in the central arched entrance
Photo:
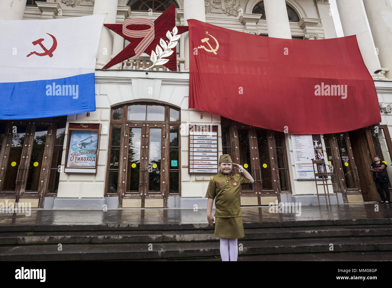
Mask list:
[[[166,125],[132,123],[123,137],[122,207],[164,207],[167,202]],[[110,163],[109,165],[112,165]],[[166,203],[167,204],[167,203]]]

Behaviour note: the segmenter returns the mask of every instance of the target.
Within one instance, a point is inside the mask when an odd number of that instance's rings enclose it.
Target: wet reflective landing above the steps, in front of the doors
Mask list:
[[[378,210],[375,205],[378,206]],[[301,206],[294,213],[270,213],[268,206],[241,207],[245,223],[352,220],[352,219],[392,219],[392,205],[355,203],[332,206]],[[375,211],[376,210],[376,211]],[[212,210],[214,215],[215,209]],[[296,212],[296,213],[295,213]],[[101,210],[53,210],[31,209],[31,215],[24,213],[0,213],[1,226],[50,226],[50,225],[165,225],[165,224],[205,224],[206,209],[162,209],[162,208],[122,208]],[[392,223],[392,221],[388,221]]]

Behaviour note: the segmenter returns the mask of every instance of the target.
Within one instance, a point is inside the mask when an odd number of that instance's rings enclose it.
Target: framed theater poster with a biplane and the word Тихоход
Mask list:
[[[100,124],[69,123],[64,172],[96,173]]]

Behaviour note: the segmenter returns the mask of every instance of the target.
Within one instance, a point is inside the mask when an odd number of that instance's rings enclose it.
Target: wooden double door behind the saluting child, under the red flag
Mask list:
[[[241,164],[255,180],[241,185],[241,205],[280,202],[282,190],[291,190],[284,134],[249,125],[229,129],[232,161]]]

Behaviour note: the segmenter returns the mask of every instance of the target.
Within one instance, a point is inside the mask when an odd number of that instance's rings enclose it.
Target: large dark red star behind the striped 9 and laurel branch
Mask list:
[[[122,33],[122,24],[104,24],[107,28],[110,30],[116,32],[123,38],[127,39],[129,42],[129,45],[125,47],[120,53],[118,53],[109,63],[107,63],[102,69],[107,69],[112,67],[113,65],[116,65],[117,63],[120,63],[124,60],[127,60],[128,58],[131,58],[135,56],[135,51],[134,49],[136,46],[143,40],[143,38],[132,38],[129,36],[126,36]],[[151,56],[151,51],[155,52],[156,45],[159,44],[160,39],[162,38],[164,41],[169,41],[169,39],[166,37],[167,31],[172,32],[174,26],[176,25],[176,19],[175,19],[175,6],[174,3],[170,5],[169,8],[166,9],[165,12],[163,12],[155,21],[154,21],[154,33],[155,33],[155,38],[152,40],[150,45],[145,49],[145,53],[149,54]],[[176,26],[178,29],[177,35],[184,33],[188,31],[188,26]],[[149,25],[128,25],[127,29],[130,30],[144,30],[144,29],[149,29]],[[174,51],[169,57],[165,57],[165,59],[169,59],[168,62],[164,64],[165,67],[170,69],[171,71],[177,71],[177,54],[176,54],[176,47],[172,48]]]

